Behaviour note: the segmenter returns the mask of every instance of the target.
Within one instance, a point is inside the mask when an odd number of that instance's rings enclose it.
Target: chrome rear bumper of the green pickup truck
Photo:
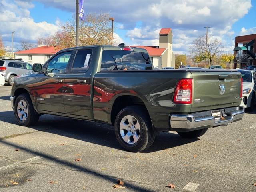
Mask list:
[[[210,128],[214,126],[226,126],[228,123],[242,120],[244,107],[231,107],[221,109],[223,120],[214,120],[211,111],[192,113],[188,115],[170,116],[171,130],[173,131],[193,131],[198,129]]]

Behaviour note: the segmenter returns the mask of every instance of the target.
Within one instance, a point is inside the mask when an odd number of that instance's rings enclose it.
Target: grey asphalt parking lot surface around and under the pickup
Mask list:
[[[104,124],[43,115],[19,126],[10,90],[0,87],[2,192],[256,191],[256,111],[200,139],[161,133],[150,150],[131,153]],[[118,179],[125,188],[113,187]]]

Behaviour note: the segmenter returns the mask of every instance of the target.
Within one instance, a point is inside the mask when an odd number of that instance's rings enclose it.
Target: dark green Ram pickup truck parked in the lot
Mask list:
[[[145,49],[120,46],[67,48],[11,91],[22,126],[52,114],[110,124],[126,150],[150,148],[159,132],[198,138],[210,127],[242,120],[242,77],[236,70],[152,70]]]

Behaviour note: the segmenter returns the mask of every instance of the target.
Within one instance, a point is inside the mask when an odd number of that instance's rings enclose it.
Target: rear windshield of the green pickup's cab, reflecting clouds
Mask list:
[[[107,50],[102,53],[101,71],[151,69],[152,64],[147,53],[121,50]]]

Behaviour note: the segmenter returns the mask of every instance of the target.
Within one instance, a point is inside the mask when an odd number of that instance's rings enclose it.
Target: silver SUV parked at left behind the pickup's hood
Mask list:
[[[32,72],[32,65],[18,58],[0,58],[0,72],[4,80],[11,85],[17,75]]]

